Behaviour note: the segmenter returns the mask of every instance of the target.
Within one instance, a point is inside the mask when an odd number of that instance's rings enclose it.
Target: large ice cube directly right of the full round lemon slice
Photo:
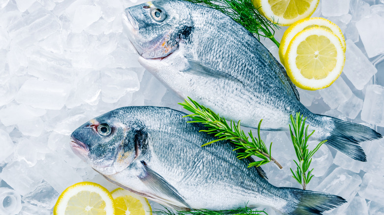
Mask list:
[[[343,72],[356,89],[361,90],[368,81],[372,80],[372,76],[377,73],[377,69],[352,40],[347,40],[346,43],[346,61]]]

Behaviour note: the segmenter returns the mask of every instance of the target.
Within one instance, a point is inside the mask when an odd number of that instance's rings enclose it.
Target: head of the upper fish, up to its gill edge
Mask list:
[[[128,7],[123,27],[137,52],[146,59],[164,58],[192,31],[190,9],[179,0],[156,0]]]

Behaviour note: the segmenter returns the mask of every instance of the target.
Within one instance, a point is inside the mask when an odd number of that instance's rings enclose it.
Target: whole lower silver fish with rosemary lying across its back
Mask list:
[[[112,183],[173,208],[228,210],[272,206],[289,215],[313,215],[342,197],[267,182],[252,159],[236,158],[226,141],[199,132],[186,113],[170,108],[125,107],[90,120],[72,135],[72,150]]]

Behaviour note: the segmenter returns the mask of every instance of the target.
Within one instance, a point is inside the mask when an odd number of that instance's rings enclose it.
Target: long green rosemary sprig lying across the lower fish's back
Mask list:
[[[271,156],[272,143],[268,150],[265,143],[260,138],[260,125],[262,120],[260,120],[260,122],[258,123],[257,138],[254,137],[254,135],[252,134],[252,131],[248,133],[249,136],[251,137],[251,141],[250,141],[249,137],[240,128],[240,120],[237,122],[237,124],[231,120],[228,125],[225,119],[220,117],[219,114],[216,114],[209,108],[205,108],[204,106],[198,104],[197,102],[193,101],[190,97],[188,97],[188,99],[190,101],[184,100],[184,103],[179,103],[179,105],[183,106],[183,108],[185,108],[186,110],[189,110],[192,112],[192,114],[187,116],[191,117],[195,121],[190,121],[190,122],[202,123],[204,126],[208,127],[209,129],[202,130],[200,132],[215,134],[215,136],[218,137],[217,139],[207,142],[202,146],[206,146],[208,144],[211,144],[220,140],[229,140],[230,142],[235,144],[236,148],[234,150],[239,150],[239,149],[241,150],[241,152],[238,153],[238,156],[237,156],[238,159],[244,159],[250,156],[256,156],[261,159],[261,161],[251,162],[248,165],[248,167],[260,166],[268,162],[274,162],[277,166],[279,166],[280,169],[283,168],[280,165],[280,163],[277,162]]]

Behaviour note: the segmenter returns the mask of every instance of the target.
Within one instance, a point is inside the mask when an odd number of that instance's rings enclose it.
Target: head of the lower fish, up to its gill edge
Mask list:
[[[135,130],[122,118],[119,109],[112,110],[91,119],[71,134],[72,151],[103,175],[123,171],[136,157]]]

